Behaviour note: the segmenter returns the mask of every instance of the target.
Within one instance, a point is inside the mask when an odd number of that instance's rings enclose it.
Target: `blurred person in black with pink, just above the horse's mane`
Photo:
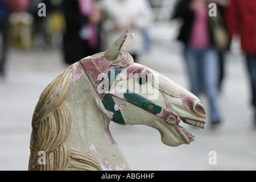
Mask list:
[[[66,30],[63,35],[65,63],[72,64],[100,51],[101,11],[96,0],[63,1]]]

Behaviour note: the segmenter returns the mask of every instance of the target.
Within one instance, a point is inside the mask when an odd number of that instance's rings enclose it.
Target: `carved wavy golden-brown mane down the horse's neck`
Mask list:
[[[71,114],[64,100],[71,88],[74,73],[71,65],[53,80],[40,95],[32,117],[28,170],[100,170],[92,155],[70,148],[67,137]],[[46,164],[40,165],[39,152],[45,152]]]

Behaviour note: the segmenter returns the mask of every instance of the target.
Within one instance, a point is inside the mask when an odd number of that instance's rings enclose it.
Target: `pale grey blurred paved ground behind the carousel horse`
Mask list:
[[[226,61],[220,97],[222,124],[197,129],[184,125],[196,137],[189,145],[168,147],[158,131],[146,126],[110,125],[113,137],[134,170],[255,170],[256,130],[249,105],[249,82],[242,61]],[[179,44],[152,45],[141,64],[188,88]],[[0,170],[27,170],[31,118],[43,89],[67,65],[59,49],[24,52],[11,49],[7,75],[0,81]],[[207,106],[207,99],[201,98]],[[217,164],[209,164],[209,152]]]

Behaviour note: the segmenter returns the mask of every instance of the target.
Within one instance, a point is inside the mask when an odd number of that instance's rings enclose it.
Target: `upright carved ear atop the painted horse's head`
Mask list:
[[[133,39],[133,34],[127,37],[128,32],[129,30],[126,30],[117,40],[115,40],[108,50],[106,50],[104,55],[106,59],[114,61],[117,58],[118,53],[125,50],[131,42],[131,39]]]

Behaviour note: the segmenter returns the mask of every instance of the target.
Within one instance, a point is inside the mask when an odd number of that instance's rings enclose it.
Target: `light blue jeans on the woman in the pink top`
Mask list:
[[[211,121],[220,121],[217,107],[219,61],[216,49],[185,48],[185,60],[191,81],[191,92],[199,97],[201,91],[205,92],[209,100]]]

